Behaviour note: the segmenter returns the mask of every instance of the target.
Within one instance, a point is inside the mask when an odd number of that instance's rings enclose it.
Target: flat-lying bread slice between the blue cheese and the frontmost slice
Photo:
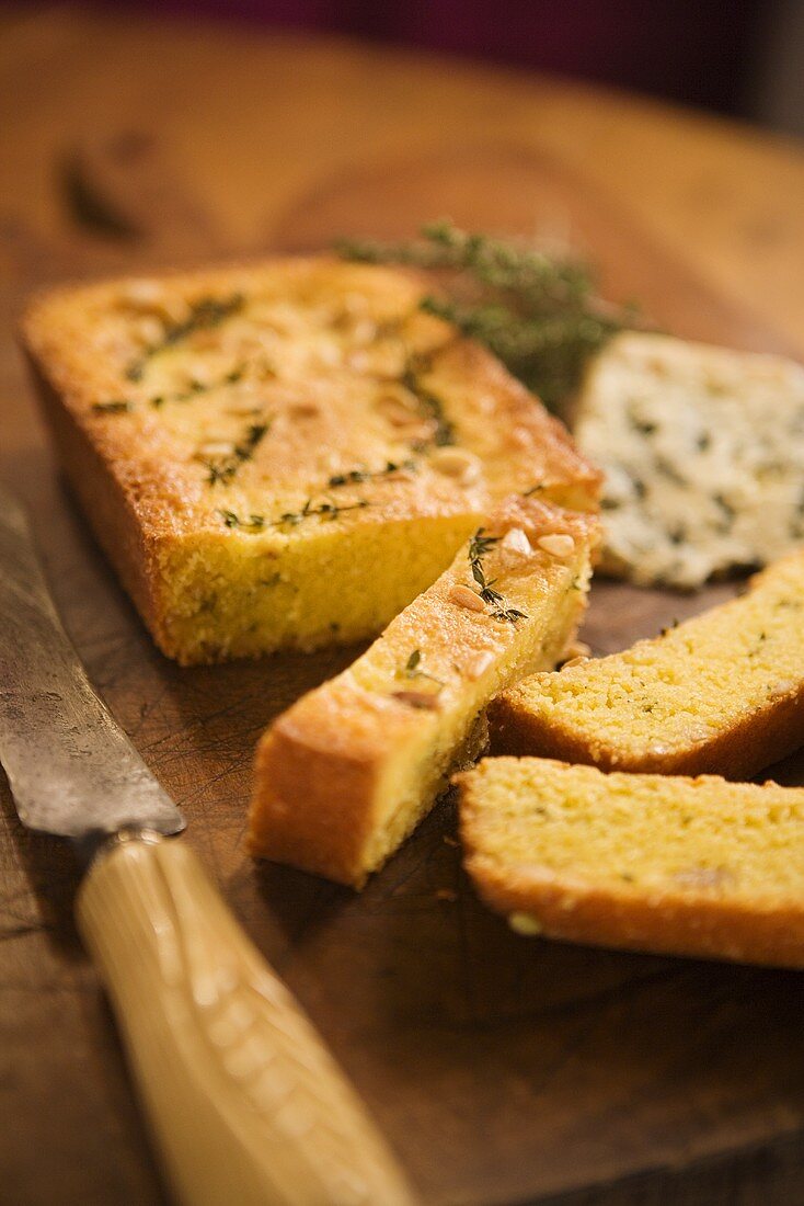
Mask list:
[[[804,551],[653,640],[518,683],[489,724],[500,754],[750,778],[804,743]]]

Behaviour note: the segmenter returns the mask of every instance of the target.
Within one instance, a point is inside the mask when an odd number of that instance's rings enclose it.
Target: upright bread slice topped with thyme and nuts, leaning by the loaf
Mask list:
[[[517,498],[495,510],[353,666],[268,730],[252,853],[359,888],[480,753],[489,698],[561,657],[595,541],[592,515]]]

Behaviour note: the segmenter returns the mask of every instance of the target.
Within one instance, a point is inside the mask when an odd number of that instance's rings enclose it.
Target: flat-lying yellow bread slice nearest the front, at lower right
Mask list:
[[[520,933],[804,967],[804,790],[486,759],[466,870]]]

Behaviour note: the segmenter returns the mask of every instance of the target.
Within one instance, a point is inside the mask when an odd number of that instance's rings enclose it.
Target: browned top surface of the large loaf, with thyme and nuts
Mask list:
[[[305,505],[383,523],[534,486],[592,505],[599,474],[563,426],[423,314],[424,292],[407,271],[277,259],[57,289],[23,338],[153,535],[229,514],[282,543]]]

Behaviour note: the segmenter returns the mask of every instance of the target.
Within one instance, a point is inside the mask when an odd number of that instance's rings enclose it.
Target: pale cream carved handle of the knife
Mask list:
[[[413,1206],[312,1025],[184,843],[125,841],[77,902],[184,1206]]]

